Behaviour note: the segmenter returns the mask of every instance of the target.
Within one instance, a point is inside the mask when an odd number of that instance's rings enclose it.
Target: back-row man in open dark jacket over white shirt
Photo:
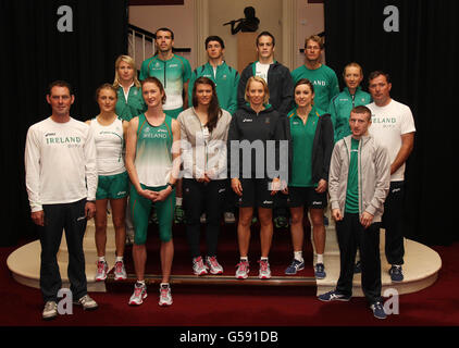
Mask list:
[[[262,32],[257,36],[258,61],[250,63],[240,74],[237,89],[237,104],[240,108],[246,104],[244,99],[247,80],[251,76],[264,78],[270,90],[269,103],[286,116],[294,107],[294,82],[289,70],[274,60],[275,39],[269,32]]]

